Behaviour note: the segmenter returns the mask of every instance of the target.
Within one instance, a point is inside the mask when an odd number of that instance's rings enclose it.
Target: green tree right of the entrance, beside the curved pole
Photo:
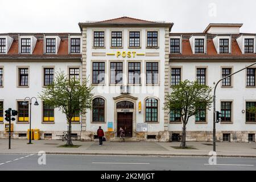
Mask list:
[[[193,115],[199,113],[200,108],[210,109],[213,97],[212,89],[207,85],[200,85],[197,81],[180,81],[179,85],[171,86],[171,93],[166,97],[164,109],[179,114],[183,122],[181,147],[186,147],[186,125]]]

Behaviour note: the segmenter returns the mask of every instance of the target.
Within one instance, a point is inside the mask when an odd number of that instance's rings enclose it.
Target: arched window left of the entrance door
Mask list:
[[[103,98],[94,98],[92,108],[92,121],[105,122],[105,100]]]

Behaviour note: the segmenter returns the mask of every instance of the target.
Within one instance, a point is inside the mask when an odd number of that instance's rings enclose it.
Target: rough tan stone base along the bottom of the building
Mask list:
[[[77,134],[79,136],[78,139],[81,139],[81,141],[93,141],[94,135],[97,135],[96,132],[92,131],[72,131],[72,133]],[[223,134],[230,134],[230,142],[249,142],[248,135],[255,133],[256,131],[216,131],[216,141],[223,142]],[[26,135],[24,137],[20,136],[22,134],[27,134],[27,132],[14,131],[11,133],[11,138],[26,139]],[[172,134],[179,134],[181,136],[181,131],[138,132],[135,133],[134,138],[148,142],[169,142]],[[63,131],[40,131],[40,139],[61,139],[62,135]],[[106,131],[105,137],[107,140],[110,140],[115,137],[115,133]],[[0,139],[7,138],[8,133],[0,131]],[[212,131],[187,131],[186,140],[193,142],[212,142]]]

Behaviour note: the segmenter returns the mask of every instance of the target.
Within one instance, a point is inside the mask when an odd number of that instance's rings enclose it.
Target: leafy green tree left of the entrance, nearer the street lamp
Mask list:
[[[45,88],[39,98],[45,104],[54,108],[58,107],[68,121],[67,146],[72,146],[71,122],[75,114],[85,114],[92,108],[93,87],[88,86],[88,78],[82,84],[79,79],[69,78],[64,72],[56,74],[55,80]]]

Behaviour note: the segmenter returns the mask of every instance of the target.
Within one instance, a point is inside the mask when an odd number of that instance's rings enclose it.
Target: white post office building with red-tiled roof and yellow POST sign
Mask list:
[[[171,85],[199,80],[214,87],[222,76],[255,62],[255,34],[242,34],[242,24],[210,24],[202,33],[170,33],[172,23],[129,17],[79,23],[81,34],[0,35],[0,138],[7,138],[4,111],[19,111],[13,137],[26,138],[29,128],[25,97],[36,97],[31,126],[41,139],[60,139],[65,115],[44,105],[38,96],[64,71],[94,86],[93,109],[76,115],[72,133],[81,140],[97,138],[102,126],[109,140],[119,128],[134,140],[179,140],[180,116],[163,109]],[[221,82],[217,88],[217,140],[255,140],[255,67]],[[34,104],[35,100],[32,100]],[[2,109],[1,109],[2,106]],[[212,140],[213,112],[200,111],[187,125],[187,140]]]

